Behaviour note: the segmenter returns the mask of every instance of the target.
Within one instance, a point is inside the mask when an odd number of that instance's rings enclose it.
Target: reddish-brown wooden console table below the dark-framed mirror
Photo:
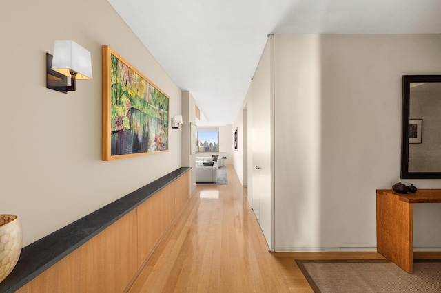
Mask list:
[[[413,204],[441,203],[441,189],[377,190],[377,251],[413,274]]]

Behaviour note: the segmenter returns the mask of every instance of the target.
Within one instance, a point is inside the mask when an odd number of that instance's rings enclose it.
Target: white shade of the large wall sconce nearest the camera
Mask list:
[[[69,77],[76,72],[75,79],[92,79],[90,52],[72,40],[56,40],[52,69]]]

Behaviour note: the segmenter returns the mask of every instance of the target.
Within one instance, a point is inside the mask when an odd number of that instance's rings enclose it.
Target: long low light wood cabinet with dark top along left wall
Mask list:
[[[189,167],[25,246],[0,293],[125,292],[185,204]]]

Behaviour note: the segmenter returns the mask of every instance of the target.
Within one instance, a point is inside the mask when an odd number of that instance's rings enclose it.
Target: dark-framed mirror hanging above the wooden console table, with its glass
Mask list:
[[[441,178],[441,75],[402,76],[401,178]]]

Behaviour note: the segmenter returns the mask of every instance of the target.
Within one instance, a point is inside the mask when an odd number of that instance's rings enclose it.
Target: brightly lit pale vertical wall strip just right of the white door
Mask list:
[[[321,246],[320,36],[274,36],[275,236],[280,248]]]

